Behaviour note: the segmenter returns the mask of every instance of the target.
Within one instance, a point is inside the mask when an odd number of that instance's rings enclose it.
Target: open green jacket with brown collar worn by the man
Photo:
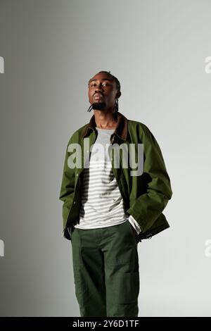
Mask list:
[[[95,127],[95,118],[92,115],[90,122],[75,131],[68,142],[68,146],[72,143],[81,146],[82,164],[70,168],[68,158],[72,151],[68,151],[67,146],[65,152],[59,199],[63,201],[63,236],[69,240],[71,240],[70,227],[79,223],[81,174],[84,160],[89,157],[91,145],[96,140]],[[85,137],[89,140],[90,148],[88,150],[84,150]],[[172,197],[170,177],[165,168],[160,146],[145,124],[136,120],[128,120],[118,112],[117,127],[110,137],[110,143],[112,146],[119,146],[119,148],[123,143],[135,144],[135,146],[143,144],[143,172],[141,175],[131,175],[132,168],[122,166],[121,153],[120,166],[115,167],[112,157],[114,154],[109,154],[126,212],[132,215],[141,227],[142,231],[137,237],[137,241],[141,242],[141,239],[149,239],[170,227],[162,213],[168,200]],[[138,151],[137,149],[135,151],[137,160]]]

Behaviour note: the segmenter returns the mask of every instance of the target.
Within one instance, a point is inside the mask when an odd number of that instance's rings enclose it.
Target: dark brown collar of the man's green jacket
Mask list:
[[[127,122],[128,119],[118,111],[117,126],[115,128],[115,132],[113,132],[113,135],[117,135],[117,137],[119,137],[124,141],[127,139]],[[80,138],[84,138],[85,136],[87,136],[89,130],[96,130],[95,127],[96,127],[96,122],[94,115],[92,115],[89,123],[84,127],[84,130],[82,131],[82,135],[80,135]]]

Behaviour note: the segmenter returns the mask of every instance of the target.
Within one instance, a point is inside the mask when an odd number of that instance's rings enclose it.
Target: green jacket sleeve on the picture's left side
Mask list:
[[[68,146],[69,144],[71,144],[71,142],[72,137],[68,142]],[[66,239],[70,239],[68,238],[69,235],[66,229],[66,223],[68,220],[68,215],[72,206],[72,201],[75,193],[75,169],[68,166],[68,157],[70,156],[70,152],[68,152],[68,146],[66,147],[65,151],[65,162],[63,165],[63,176],[59,195],[59,199],[63,201],[63,231],[64,237]]]

